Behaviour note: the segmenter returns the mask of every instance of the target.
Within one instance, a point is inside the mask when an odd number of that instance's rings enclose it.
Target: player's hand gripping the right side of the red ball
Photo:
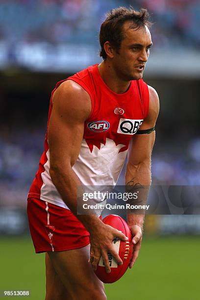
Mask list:
[[[133,257],[129,264],[129,268],[131,269],[139,255],[139,251],[142,243],[142,228],[139,225],[129,225],[129,227],[133,236],[132,243],[134,245]]]

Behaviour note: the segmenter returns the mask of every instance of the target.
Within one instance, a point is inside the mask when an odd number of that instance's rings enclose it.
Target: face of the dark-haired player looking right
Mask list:
[[[140,79],[143,76],[147,63],[150,47],[152,45],[150,30],[147,26],[141,28],[129,28],[131,22],[123,25],[121,48],[114,51],[114,67],[124,80]]]

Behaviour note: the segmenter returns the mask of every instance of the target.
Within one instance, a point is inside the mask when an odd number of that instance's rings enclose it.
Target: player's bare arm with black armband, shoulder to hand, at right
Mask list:
[[[150,106],[149,113],[140,129],[150,129],[155,126],[159,112],[159,99],[156,91],[149,86],[150,92]],[[148,186],[151,184],[151,171],[150,171],[150,159],[151,151],[155,141],[155,131],[150,134],[135,134],[132,139],[132,148],[129,156],[125,182],[127,187],[137,187],[137,185],[144,186],[143,196],[148,197]],[[146,194],[146,195],[144,195]],[[137,244],[134,247],[133,259],[130,263],[132,268],[135,260],[138,257],[139,249],[142,241],[142,229],[144,223],[143,214],[127,214],[128,225],[133,234],[133,243]]]

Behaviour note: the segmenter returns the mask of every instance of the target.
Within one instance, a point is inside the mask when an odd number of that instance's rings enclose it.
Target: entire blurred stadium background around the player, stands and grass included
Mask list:
[[[200,2],[0,0],[0,290],[44,299],[44,255],[34,255],[25,205],[43,151],[50,93],[100,62],[98,32],[117,6],[146,7],[154,25],[145,81],[160,97],[153,184],[200,185]],[[121,180],[123,180],[121,178]],[[200,216],[148,216],[133,270],[108,299],[200,299]]]

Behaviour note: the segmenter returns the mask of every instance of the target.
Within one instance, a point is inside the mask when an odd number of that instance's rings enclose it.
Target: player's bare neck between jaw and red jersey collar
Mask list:
[[[123,94],[127,91],[130,81],[119,78],[112,64],[105,60],[98,66],[98,69],[102,80],[113,92]]]

